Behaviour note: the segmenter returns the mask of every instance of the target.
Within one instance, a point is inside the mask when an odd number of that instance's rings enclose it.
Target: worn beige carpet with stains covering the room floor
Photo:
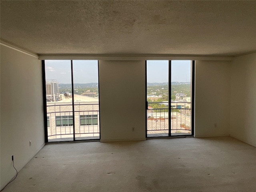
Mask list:
[[[231,137],[47,144],[3,192],[256,192],[256,148]]]

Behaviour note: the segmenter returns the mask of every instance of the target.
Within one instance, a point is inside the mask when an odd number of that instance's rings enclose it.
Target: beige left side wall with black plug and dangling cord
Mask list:
[[[2,189],[44,145],[41,61],[1,45]],[[32,146],[29,146],[29,141]]]

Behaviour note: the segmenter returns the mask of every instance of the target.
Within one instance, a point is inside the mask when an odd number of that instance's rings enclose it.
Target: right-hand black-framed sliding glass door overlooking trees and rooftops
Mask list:
[[[146,61],[147,137],[193,134],[194,61]]]

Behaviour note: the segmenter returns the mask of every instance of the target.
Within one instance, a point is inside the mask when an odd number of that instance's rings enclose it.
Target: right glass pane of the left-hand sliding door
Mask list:
[[[73,80],[76,140],[99,139],[99,125],[92,125],[92,115],[99,112],[98,61],[73,60]],[[86,117],[80,124],[79,116]]]

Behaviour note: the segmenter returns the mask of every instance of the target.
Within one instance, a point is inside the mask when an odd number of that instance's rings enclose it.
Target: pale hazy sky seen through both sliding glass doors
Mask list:
[[[172,60],[172,82],[190,82],[190,60]],[[58,83],[71,84],[70,60],[45,60],[47,79],[56,79]],[[74,83],[97,83],[97,60],[73,60]],[[168,60],[147,61],[147,82],[168,82]]]

